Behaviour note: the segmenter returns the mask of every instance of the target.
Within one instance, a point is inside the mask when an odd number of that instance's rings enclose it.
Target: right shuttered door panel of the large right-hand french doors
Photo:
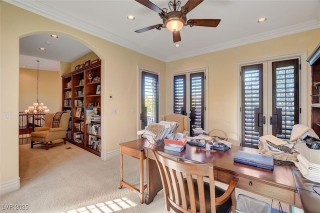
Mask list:
[[[289,139],[292,126],[298,123],[298,59],[273,62],[273,107],[281,108],[281,133],[277,137]],[[275,98],[274,98],[275,97]]]

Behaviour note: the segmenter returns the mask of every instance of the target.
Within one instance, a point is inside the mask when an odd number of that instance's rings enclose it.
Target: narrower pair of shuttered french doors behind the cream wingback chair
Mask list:
[[[204,71],[173,76],[173,112],[189,115],[190,128],[204,128]]]

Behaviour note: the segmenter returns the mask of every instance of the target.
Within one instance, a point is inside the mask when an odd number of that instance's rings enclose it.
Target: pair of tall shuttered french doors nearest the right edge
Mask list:
[[[299,58],[241,66],[241,145],[259,136],[289,139],[299,123]]]

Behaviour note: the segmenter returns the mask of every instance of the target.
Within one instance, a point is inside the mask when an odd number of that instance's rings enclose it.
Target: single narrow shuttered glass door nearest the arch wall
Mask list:
[[[158,122],[158,75],[142,72],[142,109],[141,109],[141,122],[142,129],[146,128],[150,123]]]

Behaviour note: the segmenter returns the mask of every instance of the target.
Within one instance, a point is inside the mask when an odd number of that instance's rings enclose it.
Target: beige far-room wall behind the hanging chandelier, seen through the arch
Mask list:
[[[39,69],[39,102],[43,102],[51,113],[61,110],[61,77],[59,71]],[[24,111],[37,98],[37,70],[20,68],[19,72],[19,111]]]

